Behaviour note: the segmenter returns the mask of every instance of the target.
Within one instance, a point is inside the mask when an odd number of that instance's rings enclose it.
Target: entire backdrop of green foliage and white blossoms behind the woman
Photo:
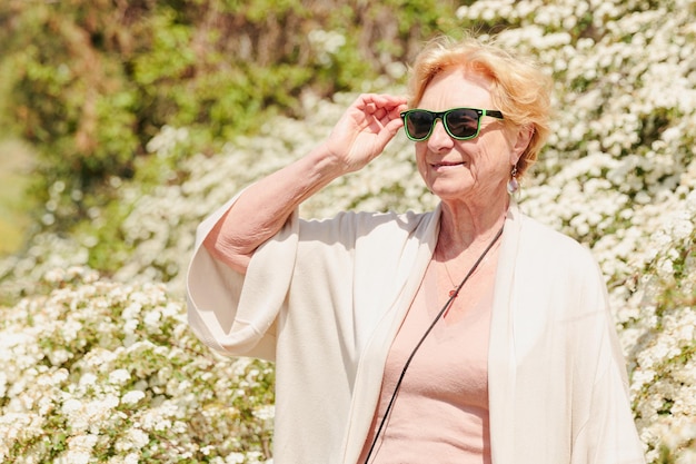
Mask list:
[[[648,461],[695,463],[694,24],[692,0],[2,2],[0,122],[36,157],[0,261],[0,461],[269,460],[272,365],[186,327],[195,227],[474,29],[553,73],[520,204],[605,272]],[[431,207],[411,156],[400,135],[302,214]]]

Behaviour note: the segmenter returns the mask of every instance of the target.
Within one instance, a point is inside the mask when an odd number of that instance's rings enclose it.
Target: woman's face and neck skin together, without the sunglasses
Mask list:
[[[497,110],[489,87],[484,76],[448,70],[428,85],[418,108]],[[438,119],[430,137],[416,142],[418,170],[443,200],[440,247],[463,250],[475,237],[487,238],[500,227],[509,203],[506,184],[529,141],[527,132],[506,130],[501,120],[484,117],[478,137],[455,140]]]

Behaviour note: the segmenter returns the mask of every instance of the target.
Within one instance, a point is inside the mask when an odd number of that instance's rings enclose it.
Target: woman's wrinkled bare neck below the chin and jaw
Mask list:
[[[443,201],[438,247],[444,258],[487,245],[498,233],[509,207],[507,195],[487,205]]]

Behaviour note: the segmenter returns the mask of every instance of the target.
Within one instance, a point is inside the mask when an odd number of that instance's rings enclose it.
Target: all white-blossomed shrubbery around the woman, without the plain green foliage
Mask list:
[[[536,56],[553,73],[553,136],[523,181],[520,206],[586,244],[599,261],[648,462],[696,463],[696,6],[487,0],[461,7],[458,18],[465,26],[506,24],[498,42]],[[275,118],[216,156],[177,162],[168,160],[181,159],[188,132],[165,127],[148,146],[161,160],[156,188],[119,185],[118,205],[90,211],[90,227],[71,237],[37,236],[27,254],[0,263],[8,302],[0,434],[9,437],[0,455],[269,457],[272,368],[220,359],[191,338],[183,270],[200,219],[307,154],[354,97],[306,95],[301,118]],[[415,168],[412,144],[399,134],[382,156],[332,182],[301,214],[424,210],[435,201]],[[96,250],[113,269],[109,280],[84,267]],[[54,270],[70,266],[78,267]]]

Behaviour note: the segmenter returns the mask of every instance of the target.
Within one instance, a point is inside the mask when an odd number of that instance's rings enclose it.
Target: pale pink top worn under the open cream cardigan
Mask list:
[[[377,413],[358,464],[365,463],[406,361],[445,303],[446,295],[437,295],[434,275],[426,273],[391,345]],[[467,305],[459,314],[453,308],[420,346],[370,464],[490,463],[487,362],[493,285],[489,287],[474,306]],[[457,299],[461,298],[465,295]]]

